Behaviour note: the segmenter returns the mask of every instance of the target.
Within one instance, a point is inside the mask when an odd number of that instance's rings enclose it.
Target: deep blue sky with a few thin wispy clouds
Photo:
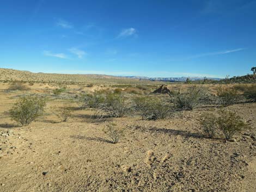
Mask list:
[[[0,2],[0,67],[149,77],[256,66],[256,1]]]

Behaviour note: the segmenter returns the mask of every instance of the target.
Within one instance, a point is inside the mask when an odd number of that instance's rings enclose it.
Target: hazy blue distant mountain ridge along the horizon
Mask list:
[[[118,76],[132,79],[143,79],[143,80],[161,80],[164,82],[185,82],[187,78],[190,80],[202,80],[204,77],[144,77],[144,76]],[[221,78],[206,77],[211,80],[221,80]]]

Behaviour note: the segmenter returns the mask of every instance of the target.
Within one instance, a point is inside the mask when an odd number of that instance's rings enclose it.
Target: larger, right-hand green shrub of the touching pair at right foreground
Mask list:
[[[217,119],[218,127],[223,132],[225,139],[232,139],[233,135],[249,128],[247,123],[243,122],[239,115],[234,112],[222,110]]]

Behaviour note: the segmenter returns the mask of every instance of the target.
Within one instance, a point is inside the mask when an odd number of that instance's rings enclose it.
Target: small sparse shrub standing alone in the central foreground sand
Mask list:
[[[105,133],[111,138],[114,144],[117,144],[120,138],[124,136],[124,129],[117,127],[115,123],[109,123],[106,125]]]

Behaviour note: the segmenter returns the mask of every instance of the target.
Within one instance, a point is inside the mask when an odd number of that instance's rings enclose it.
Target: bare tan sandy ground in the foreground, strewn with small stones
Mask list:
[[[21,94],[0,91],[0,191],[256,191],[256,103],[229,107],[252,126],[235,142],[205,138],[197,119],[214,109],[199,108],[158,121],[109,119],[125,128],[112,144],[89,110],[59,122],[50,107],[61,100],[17,126],[4,112]]]

